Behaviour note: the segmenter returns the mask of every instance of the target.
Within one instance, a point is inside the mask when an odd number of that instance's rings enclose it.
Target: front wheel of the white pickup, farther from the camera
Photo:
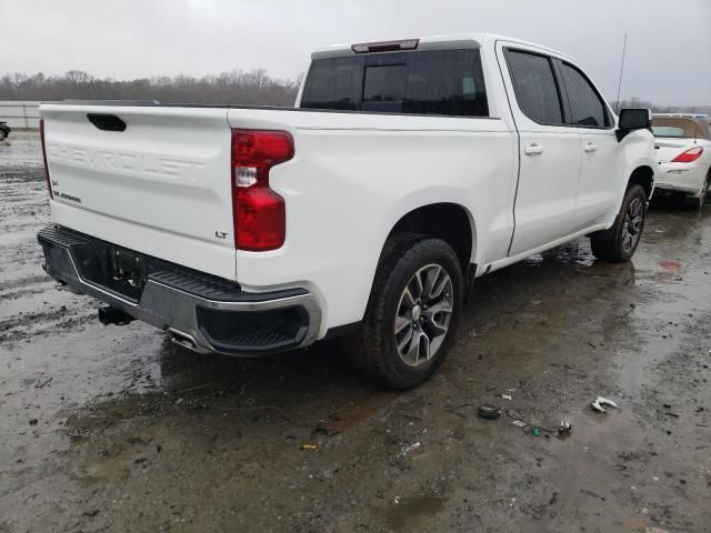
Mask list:
[[[640,209],[639,222],[637,209]],[[640,243],[645,219],[647,193],[641,185],[630,185],[612,228],[590,237],[593,255],[611,263],[623,263],[632,259]]]

